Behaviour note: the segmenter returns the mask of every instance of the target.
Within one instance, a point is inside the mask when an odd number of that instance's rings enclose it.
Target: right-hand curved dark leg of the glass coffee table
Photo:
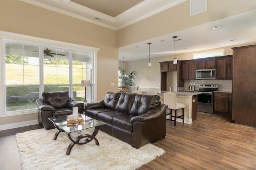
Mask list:
[[[99,126],[96,126],[92,135],[83,134],[83,135],[80,135],[80,136],[76,137],[75,139],[72,138],[70,133],[66,133],[67,136],[68,136],[68,139],[70,139],[70,141],[71,141],[71,143],[68,145],[66,155],[70,154],[71,149],[74,147],[75,144],[84,145],[84,144],[89,143],[90,141],[92,141],[92,139],[94,139],[95,144],[99,146],[100,145],[99,141],[95,137],[97,135],[98,131],[99,131],[99,128],[100,128]],[[83,138],[86,138],[86,139],[81,141],[81,139],[83,139]]]

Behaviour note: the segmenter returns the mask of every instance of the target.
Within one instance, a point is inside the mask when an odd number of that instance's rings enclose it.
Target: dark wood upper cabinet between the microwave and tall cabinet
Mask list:
[[[216,59],[216,79],[232,80],[233,59],[231,57],[221,57]]]

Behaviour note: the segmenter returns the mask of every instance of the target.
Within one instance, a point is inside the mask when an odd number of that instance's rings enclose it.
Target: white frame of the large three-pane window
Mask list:
[[[6,112],[6,82],[5,82],[5,42],[13,42],[13,43],[22,43],[26,45],[35,45],[35,46],[40,46],[42,47],[53,47],[57,49],[67,49],[69,51],[80,51],[84,53],[92,53],[92,67],[93,67],[93,75],[92,75],[92,92],[94,98],[96,97],[96,93],[94,88],[96,88],[96,83],[94,80],[96,80],[96,56],[98,48],[94,47],[87,47],[83,45],[76,45],[76,44],[71,44],[71,43],[65,43],[61,41],[54,41],[54,40],[49,40],[49,39],[43,39],[43,38],[38,38],[38,37],[32,37],[28,35],[20,35],[16,33],[8,33],[4,31],[0,31],[0,66],[1,66],[1,74],[0,74],[0,90],[2,92],[0,94],[0,117],[8,117],[8,116],[14,116],[14,115],[24,115],[24,114],[31,114],[31,113],[37,113],[37,109],[25,109],[25,110],[19,110],[19,111],[8,111]],[[42,48],[43,49],[43,48]],[[42,49],[39,48],[39,55],[43,56]],[[70,53],[70,52],[69,52]],[[72,54],[71,54],[72,55]],[[41,76],[41,73],[43,72],[43,57],[39,57],[40,60],[40,94],[42,94],[42,80],[43,76]],[[69,72],[70,72],[70,81],[69,81],[69,92],[70,92],[70,97],[73,97],[72,94],[72,57],[70,57],[70,64],[69,64]],[[40,95],[41,98],[41,95]]]

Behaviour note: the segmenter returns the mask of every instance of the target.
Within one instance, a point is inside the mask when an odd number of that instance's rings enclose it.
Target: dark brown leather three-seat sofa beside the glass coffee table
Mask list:
[[[167,105],[160,96],[112,93],[98,103],[86,103],[85,115],[106,122],[100,130],[135,148],[164,139]]]

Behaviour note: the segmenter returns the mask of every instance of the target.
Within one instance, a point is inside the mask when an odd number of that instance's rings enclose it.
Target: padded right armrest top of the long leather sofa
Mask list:
[[[130,123],[132,123],[134,121],[145,122],[145,121],[150,121],[152,119],[155,119],[156,117],[159,117],[164,112],[164,110],[166,110],[166,108],[167,108],[167,105],[159,104],[154,109],[148,111],[148,113],[144,113],[142,115],[132,117],[132,119],[130,120]]]

